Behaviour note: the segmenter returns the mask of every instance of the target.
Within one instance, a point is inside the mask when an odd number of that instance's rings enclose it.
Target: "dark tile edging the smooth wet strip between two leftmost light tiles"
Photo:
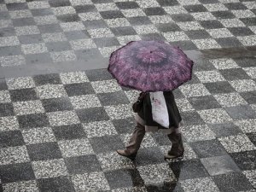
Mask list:
[[[61,84],[61,78],[58,73],[36,75],[33,79],[37,86],[43,84]]]

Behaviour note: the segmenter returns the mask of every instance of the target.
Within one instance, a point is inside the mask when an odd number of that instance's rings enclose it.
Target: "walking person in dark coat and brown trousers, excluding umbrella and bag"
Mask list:
[[[141,107],[135,116],[136,126],[132,132],[128,145],[125,147],[125,149],[117,150],[117,153],[131,160],[135,160],[137,151],[143,142],[145,133],[162,131],[167,135],[172,143],[172,148],[170,148],[170,150],[165,154],[165,159],[182,159],[184,148],[181,134],[181,125],[183,122],[172,91],[163,92],[170,122],[168,127],[163,127],[154,121],[149,94],[150,93],[145,92],[140,93],[138,101],[141,102]]]

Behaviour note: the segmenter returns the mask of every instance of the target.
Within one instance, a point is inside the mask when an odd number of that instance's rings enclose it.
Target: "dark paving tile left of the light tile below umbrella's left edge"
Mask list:
[[[82,96],[95,93],[91,84],[87,82],[81,84],[64,84],[64,88],[67,91],[67,96]]]

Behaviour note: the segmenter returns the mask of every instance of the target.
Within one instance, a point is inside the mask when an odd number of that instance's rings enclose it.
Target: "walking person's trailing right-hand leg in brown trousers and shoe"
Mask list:
[[[168,137],[172,142],[172,148],[165,155],[165,160],[183,159],[184,148],[181,133],[173,131]]]

